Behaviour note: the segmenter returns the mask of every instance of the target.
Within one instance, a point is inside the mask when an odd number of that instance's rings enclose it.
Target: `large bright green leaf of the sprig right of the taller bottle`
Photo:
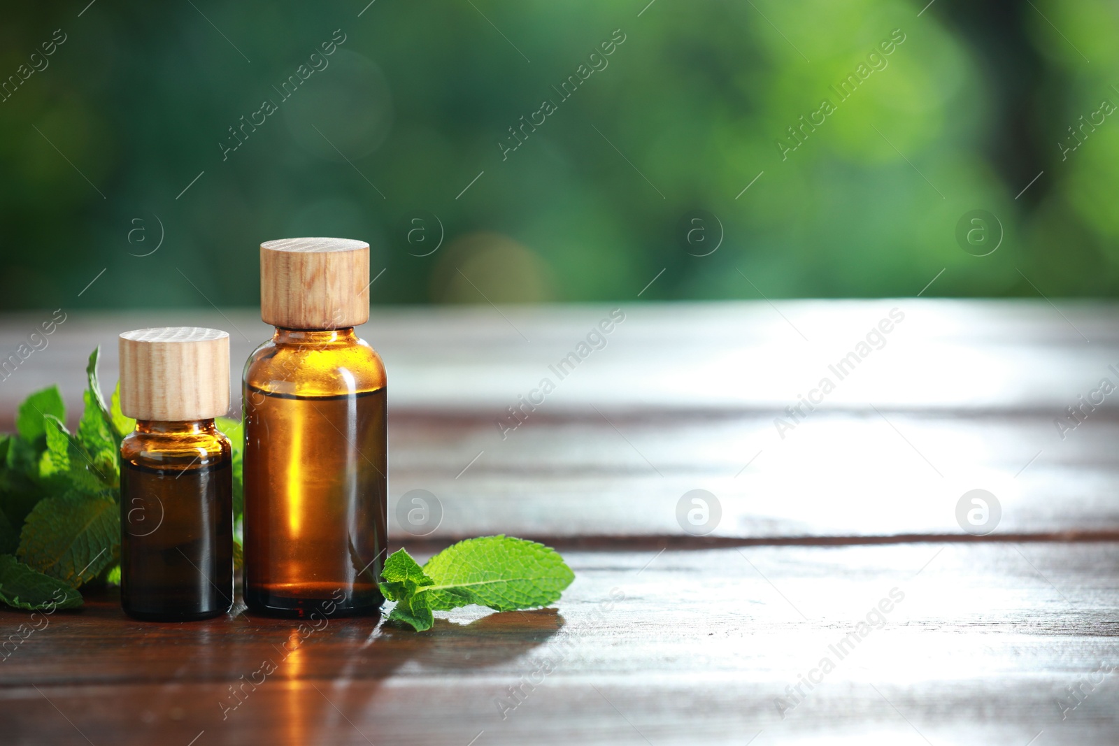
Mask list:
[[[429,559],[423,572],[435,582],[422,591],[432,608],[546,606],[575,579],[555,549],[500,535],[459,541]]]

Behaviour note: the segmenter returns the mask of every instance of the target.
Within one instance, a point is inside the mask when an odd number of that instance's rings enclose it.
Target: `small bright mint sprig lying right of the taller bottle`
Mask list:
[[[385,560],[380,592],[396,606],[388,621],[431,629],[434,611],[478,604],[499,612],[558,601],[575,574],[555,549],[511,536],[459,541],[421,567],[407,550]]]

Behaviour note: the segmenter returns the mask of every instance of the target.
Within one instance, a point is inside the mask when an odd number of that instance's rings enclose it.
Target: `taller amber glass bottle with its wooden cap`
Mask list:
[[[245,363],[245,603],[278,616],[373,613],[386,549],[385,368],[369,318],[369,245],[261,244],[261,318]]]

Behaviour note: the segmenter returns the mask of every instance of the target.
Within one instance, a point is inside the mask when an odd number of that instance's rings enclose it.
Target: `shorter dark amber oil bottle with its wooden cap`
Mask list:
[[[121,334],[121,606],[182,622],[233,605],[229,336],[169,327]]]

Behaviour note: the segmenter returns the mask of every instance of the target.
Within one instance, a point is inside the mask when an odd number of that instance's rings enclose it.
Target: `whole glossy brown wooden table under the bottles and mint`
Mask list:
[[[301,633],[239,604],[140,623],[96,596],[0,663],[4,743],[1119,740],[1119,393],[1065,419],[1119,385],[1119,306],[622,304],[580,358],[612,308],[388,310],[360,330],[389,372],[394,544],[546,541],[576,573],[555,608]],[[0,351],[38,321],[4,318]],[[167,323],[227,329],[238,362],[267,336],[251,312],[75,311],[0,383],[4,422],[54,380],[76,415],[90,349],[112,381],[115,333]],[[801,395],[815,409],[784,412]],[[422,538],[394,519],[413,489],[443,509]],[[975,489],[1000,508],[987,536],[957,518]],[[692,490],[717,522],[678,510]],[[0,611],[0,630],[23,621]]]

